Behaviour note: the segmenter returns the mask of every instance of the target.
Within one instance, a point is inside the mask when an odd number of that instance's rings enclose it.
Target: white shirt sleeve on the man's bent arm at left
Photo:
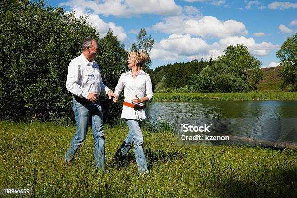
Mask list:
[[[81,78],[80,68],[77,61],[72,60],[68,66],[68,75],[66,81],[66,88],[72,94],[75,94],[78,97],[87,98],[89,92],[84,90],[79,84],[79,80]]]

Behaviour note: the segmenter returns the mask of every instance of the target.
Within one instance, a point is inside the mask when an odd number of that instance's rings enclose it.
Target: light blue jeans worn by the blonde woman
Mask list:
[[[126,123],[129,127],[128,135],[121,145],[120,150],[123,155],[126,155],[128,151],[132,148],[134,142],[134,153],[136,158],[136,163],[138,165],[139,173],[148,173],[148,165],[146,161],[145,154],[143,152],[143,135],[140,129],[141,121],[126,119]]]

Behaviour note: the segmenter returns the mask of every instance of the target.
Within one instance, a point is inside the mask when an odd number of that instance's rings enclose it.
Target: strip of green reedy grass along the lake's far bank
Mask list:
[[[154,93],[154,101],[200,101],[200,100],[296,100],[297,92],[272,93]]]

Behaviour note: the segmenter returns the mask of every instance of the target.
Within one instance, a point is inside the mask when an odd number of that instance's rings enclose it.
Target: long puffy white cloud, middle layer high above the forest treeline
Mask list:
[[[191,34],[202,38],[224,38],[227,36],[247,35],[247,30],[242,22],[235,20],[220,21],[213,16],[202,18],[189,18],[188,16],[166,17],[164,22],[153,26],[169,34]]]

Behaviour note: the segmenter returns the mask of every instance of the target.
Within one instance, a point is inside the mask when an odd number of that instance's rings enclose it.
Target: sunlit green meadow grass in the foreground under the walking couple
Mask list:
[[[120,170],[112,156],[127,134],[105,127],[106,170],[93,171],[93,139],[71,166],[64,155],[75,126],[0,122],[0,187],[30,187],[32,197],[271,197],[297,196],[297,153],[271,148],[176,147],[172,133],[143,130],[150,175],[137,172],[133,150]]]

